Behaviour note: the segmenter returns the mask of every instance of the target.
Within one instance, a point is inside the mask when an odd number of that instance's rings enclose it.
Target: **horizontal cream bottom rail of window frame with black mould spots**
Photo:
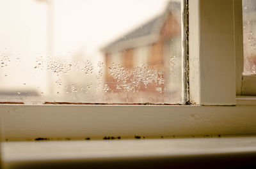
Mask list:
[[[256,106],[1,105],[8,141],[177,138],[256,133]]]

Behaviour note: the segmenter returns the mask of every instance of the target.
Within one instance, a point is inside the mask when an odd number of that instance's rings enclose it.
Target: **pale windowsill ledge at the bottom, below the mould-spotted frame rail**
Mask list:
[[[80,167],[111,168],[113,165],[117,165],[128,168],[128,166],[131,167],[131,164],[137,164],[139,167],[142,165],[141,161],[146,166],[150,163],[152,165],[173,164],[179,166],[193,161],[201,163],[205,160],[214,166],[215,162],[212,160],[216,160],[218,157],[220,157],[219,161],[237,157],[242,161],[244,157],[250,157],[244,158],[244,160],[255,159],[256,136],[3,142],[2,152],[4,166],[7,168],[51,168],[51,166],[52,168],[65,168],[77,164]],[[182,160],[188,161],[185,163]],[[233,164],[236,164],[236,160],[233,161]],[[136,165],[132,167],[136,168]],[[150,166],[146,168],[150,168]]]

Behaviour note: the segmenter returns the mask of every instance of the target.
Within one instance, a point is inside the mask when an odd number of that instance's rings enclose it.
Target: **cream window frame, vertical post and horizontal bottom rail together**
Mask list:
[[[255,99],[236,96],[241,93],[237,86],[241,80],[237,79],[243,71],[235,63],[241,59],[243,34],[237,22],[241,13],[234,9],[242,8],[241,0],[187,2],[191,104],[0,105],[2,138],[94,140],[255,134]]]

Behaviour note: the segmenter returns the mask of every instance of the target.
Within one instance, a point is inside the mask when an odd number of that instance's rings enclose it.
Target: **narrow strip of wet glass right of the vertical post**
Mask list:
[[[244,75],[256,75],[256,1],[243,0]]]

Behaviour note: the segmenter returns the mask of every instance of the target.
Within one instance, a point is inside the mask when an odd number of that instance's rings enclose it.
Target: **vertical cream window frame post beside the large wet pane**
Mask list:
[[[191,103],[236,105],[234,44],[233,0],[189,1]]]

